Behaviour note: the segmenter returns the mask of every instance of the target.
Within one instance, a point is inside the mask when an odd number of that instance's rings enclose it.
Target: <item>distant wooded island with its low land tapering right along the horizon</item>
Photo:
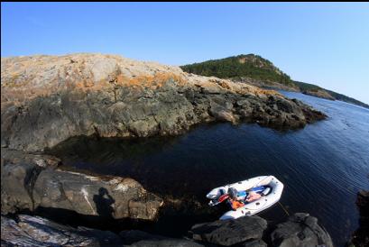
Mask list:
[[[229,78],[235,82],[244,82],[257,87],[301,92],[330,100],[341,100],[354,105],[369,108],[355,98],[318,87],[314,84],[295,81],[289,75],[275,67],[268,59],[254,54],[241,54],[225,59],[212,59],[200,63],[180,66],[186,72],[217,78]]]

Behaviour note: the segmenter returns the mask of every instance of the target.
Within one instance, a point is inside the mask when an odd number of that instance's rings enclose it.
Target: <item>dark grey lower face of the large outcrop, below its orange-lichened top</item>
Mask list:
[[[169,80],[171,83],[175,85]],[[172,135],[196,123],[239,120],[274,128],[298,128],[324,118],[324,114],[313,112],[307,105],[281,96],[244,97],[226,92],[209,95],[197,87],[186,88],[186,95],[178,87],[147,90],[123,87],[115,89],[115,95],[64,91],[9,107],[2,111],[2,142],[13,149],[39,151],[80,134]],[[243,100],[244,104],[236,105]]]

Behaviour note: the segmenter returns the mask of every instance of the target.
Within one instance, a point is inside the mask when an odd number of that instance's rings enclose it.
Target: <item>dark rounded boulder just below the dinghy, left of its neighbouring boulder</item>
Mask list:
[[[267,223],[263,218],[247,216],[235,220],[195,224],[190,232],[193,234],[192,238],[197,241],[225,246],[236,243],[243,243],[243,246],[258,246],[253,245],[258,243],[254,241],[261,240],[266,226]],[[263,244],[263,241],[261,242]]]

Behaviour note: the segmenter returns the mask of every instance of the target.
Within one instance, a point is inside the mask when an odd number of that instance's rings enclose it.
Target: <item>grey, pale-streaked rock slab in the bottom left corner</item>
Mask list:
[[[73,228],[39,216],[1,216],[1,246],[123,246],[121,238],[108,231]]]

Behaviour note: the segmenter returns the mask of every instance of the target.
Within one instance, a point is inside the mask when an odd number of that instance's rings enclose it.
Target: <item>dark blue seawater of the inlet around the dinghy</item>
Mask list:
[[[154,193],[197,202],[186,213],[182,208],[162,215],[152,227],[155,233],[172,236],[221,215],[201,216],[201,209],[208,210],[205,195],[211,188],[271,174],[285,185],[281,204],[287,211],[318,217],[335,244],[343,246],[357,227],[356,193],[369,189],[369,110],[282,93],[313,105],[328,115],[327,120],[288,132],[257,124],[217,123],[197,126],[178,137],[131,141],[80,137],[61,143],[51,153],[67,169],[135,178]],[[276,204],[261,216],[275,223],[286,213]]]

